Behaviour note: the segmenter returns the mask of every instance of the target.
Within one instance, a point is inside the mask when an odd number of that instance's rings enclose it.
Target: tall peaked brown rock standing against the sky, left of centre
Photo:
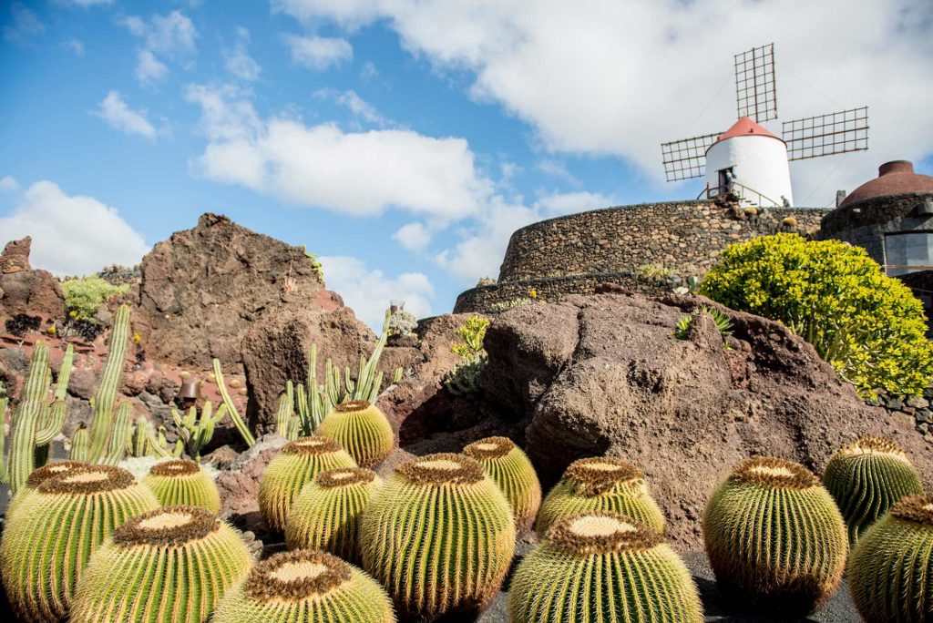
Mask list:
[[[299,306],[342,306],[301,248],[205,214],[143,258],[133,327],[157,360],[206,367],[217,357],[236,366],[246,332],[289,293]]]

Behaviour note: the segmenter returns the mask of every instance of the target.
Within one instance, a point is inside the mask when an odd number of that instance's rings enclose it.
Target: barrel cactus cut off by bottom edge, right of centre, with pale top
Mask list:
[[[522,623],[701,623],[687,566],[664,537],[613,512],[558,520],[522,561],[508,591]]]

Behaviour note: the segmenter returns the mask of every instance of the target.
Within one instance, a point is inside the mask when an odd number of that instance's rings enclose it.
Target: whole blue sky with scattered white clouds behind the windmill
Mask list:
[[[887,159],[931,173],[933,7],[808,10],[0,2],[0,242],[29,233],[35,265],[84,273],[219,212],[323,256],[370,324],[389,298],[450,311],[515,228],[695,197],[658,144],[728,128],[731,55],[770,41],[782,118],[870,106],[869,152],[792,165],[799,203]]]

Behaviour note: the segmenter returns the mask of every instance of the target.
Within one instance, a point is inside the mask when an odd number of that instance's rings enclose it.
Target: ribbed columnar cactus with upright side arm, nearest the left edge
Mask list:
[[[35,345],[22,387],[20,404],[10,419],[7,463],[0,461],[0,481],[7,482],[13,493],[21,489],[35,467],[46,464],[49,443],[62,432],[66,406],[64,398],[74,356],[74,350],[69,344],[59,370],[55,392],[49,400],[49,346],[44,342]],[[6,401],[4,404],[6,405]],[[5,408],[0,409],[0,416],[4,410]],[[0,418],[0,424],[2,423]],[[0,455],[4,446],[4,438],[0,435]]]

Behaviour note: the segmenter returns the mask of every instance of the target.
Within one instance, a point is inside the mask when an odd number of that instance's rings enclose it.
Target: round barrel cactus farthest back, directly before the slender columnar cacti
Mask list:
[[[361,467],[382,463],[396,444],[392,425],[366,400],[337,405],[317,427],[317,435],[337,441]]]

